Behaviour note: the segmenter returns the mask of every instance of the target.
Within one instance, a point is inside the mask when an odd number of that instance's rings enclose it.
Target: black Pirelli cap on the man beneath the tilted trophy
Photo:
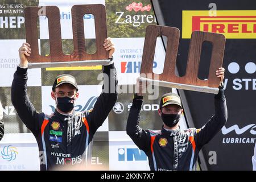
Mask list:
[[[170,104],[176,104],[182,108],[180,96],[178,96],[176,93],[172,93],[172,92],[164,94],[160,101],[160,108],[162,109],[162,107],[170,105]]]

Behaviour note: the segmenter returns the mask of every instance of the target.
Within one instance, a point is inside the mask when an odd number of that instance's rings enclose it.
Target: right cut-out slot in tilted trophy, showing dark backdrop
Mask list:
[[[199,63],[198,78],[200,80],[208,80],[210,70],[210,59],[212,57],[213,45],[209,41],[204,41],[201,46],[201,55]]]

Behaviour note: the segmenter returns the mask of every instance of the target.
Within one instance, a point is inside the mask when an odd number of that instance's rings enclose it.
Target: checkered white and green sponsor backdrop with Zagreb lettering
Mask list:
[[[5,136],[0,142],[0,170],[39,170],[39,152],[34,136],[20,121],[11,104],[11,82],[19,64],[18,48],[26,42],[24,9],[27,6],[57,6],[60,9],[63,52],[73,51],[71,7],[78,4],[101,3],[106,6],[108,36],[116,45],[115,67],[118,72],[119,94],[117,104],[110,112],[104,125],[98,129],[93,140],[92,165],[94,169],[148,170],[148,160],[143,151],[126,135],[126,122],[133,98],[136,78],[141,69],[141,59],[146,26],[156,24],[151,2],[121,0],[82,0],[82,1],[8,1],[0,3],[0,99],[4,109]],[[42,9],[43,11],[43,9]],[[48,19],[38,19],[39,53],[49,55]],[[94,16],[84,16],[86,51],[94,53]],[[154,60],[154,72],[163,70],[165,52],[161,39],[158,39]],[[44,68],[28,70],[28,96],[36,110],[51,114],[55,102],[52,100],[51,86],[57,75],[67,73],[76,77],[80,98],[76,102],[77,111],[89,110],[101,93],[101,66]],[[131,89],[131,90],[130,90]],[[129,93],[127,93],[130,90]],[[159,91],[159,93],[158,93]],[[159,88],[155,99],[145,97],[142,106],[141,126],[144,129],[160,130],[162,122],[157,113],[160,97],[170,88]],[[176,92],[176,90],[173,90]],[[181,127],[187,128],[185,117]]]

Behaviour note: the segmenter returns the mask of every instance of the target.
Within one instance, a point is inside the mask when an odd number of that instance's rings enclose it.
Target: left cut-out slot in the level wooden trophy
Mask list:
[[[40,27],[40,22],[46,22],[46,26]],[[38,28],[38,53],[40,56],[49,56],[51,50],[49,48],[49,26],[47,16],[38,16],[37,18]],[[42,37],[42,34],[44,36]],[[33,51],[33,50],[32,50]]]

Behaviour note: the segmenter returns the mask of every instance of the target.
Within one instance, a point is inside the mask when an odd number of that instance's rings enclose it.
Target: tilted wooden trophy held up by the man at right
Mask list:
[[[152,72],[154,61],[156,38],[165,35],[168,38],[166,47],[166,57],[163,73],[158,75]],[[143,48],[141,80],[151,81],[153,85],[166,86],[170,88],[193,90],[197,92],[218,93],[220,78],[216,76],[216,70],[222,67],[225,36],[210,32],[194,31],[189,44],[188,62],[185,76],[175,75],[175,65],[177,49],[179,46],[180,31],[175,27],[150,25],[146,28],[146,38]],[[212,43],[212,57],[210,58],[210,68],[208,80],[198,78],[201,48],[203,42]],[[148,76],[148,73],[150,73]],[[158,80],[152,78],[158,77]]]

